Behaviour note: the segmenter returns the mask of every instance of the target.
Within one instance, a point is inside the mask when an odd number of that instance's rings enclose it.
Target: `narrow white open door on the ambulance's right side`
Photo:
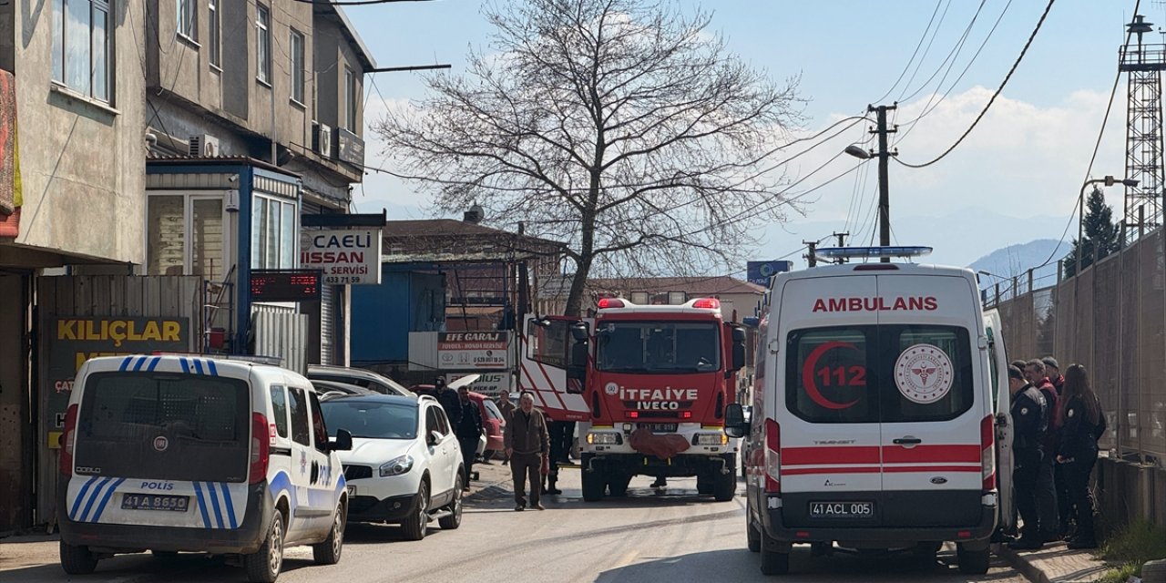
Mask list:
[[[991,361],[992,394],[996,401],[996,479],[999,482],[1000,515],[1004,532],[1014,528],[1012,513],[1012,395],[1009,392],[1009,357],[1004,346],[1000,312],[984,311],[984,333],[988,336],[988,354]]]

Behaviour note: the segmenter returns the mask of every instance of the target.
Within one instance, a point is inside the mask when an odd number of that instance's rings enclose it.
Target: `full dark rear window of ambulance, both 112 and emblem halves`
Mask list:
[[[786,406],[812,423],[946,421],[975,401],[963,328],[814,328],[787,345]]]

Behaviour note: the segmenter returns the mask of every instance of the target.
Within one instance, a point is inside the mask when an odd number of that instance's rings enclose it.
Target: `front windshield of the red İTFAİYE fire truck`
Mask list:
[[[606,322],[596,331],[596,367],[627,373],[721,368],[721,326],[702,322]]]

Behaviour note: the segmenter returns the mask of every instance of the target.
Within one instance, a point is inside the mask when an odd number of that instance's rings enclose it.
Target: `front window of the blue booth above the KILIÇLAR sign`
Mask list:
[[[223,198],[150,195],[146,212],[147,275],[201,275],[211,281],[226,275]]]

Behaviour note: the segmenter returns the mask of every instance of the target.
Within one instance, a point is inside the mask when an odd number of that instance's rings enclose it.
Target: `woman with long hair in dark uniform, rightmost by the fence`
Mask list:
[[[1061,437],[1056,448],[1056,464],[1065,476],[1070,515],[1076,531],[1069,548],[1097,548],[1094,533],[1094,500],[1089,492],[1089,475],[1097,462],[1097,440],[1105,433],[1105,415],[1101,401],[1089,386],[1086,367],[1069,365],[1065,371],[1065,392],[1061,394]]]

